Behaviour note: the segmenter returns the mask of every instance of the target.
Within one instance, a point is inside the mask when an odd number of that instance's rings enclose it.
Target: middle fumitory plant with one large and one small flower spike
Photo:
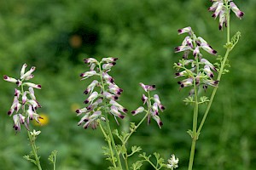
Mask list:
[[[137,114],[145,114],[143,119],[137,124],[131,122],[130,132],[121,132],[117,129],[112,130],[110,119],[113,118],[119,125],[119,119],[124,119],[127,116],[127,109],[123,105],[119,104],[119,97],[123,90],[114,82],[113,77],[108,73],[111,71],[113,65],[116,64],[117,58],[103,58],[98,61],[94,58],[84,59],[84,63],[90,66],[90,71],[85,71],[80,75],[81,80],[89,77],[94,77],[88,87],[84,90],[84,94],[87,98],[84,100],[84,108],[77,110],[77,115],[82,116],[78,125],[83,125],[86,129],[91,127],[96,129],[100,127],[105,140],[108,143],[108,147],[102,147],[104,155],[107,156],[107,160],[110,161],[112,167],[109,169],[139,169],[143,165],[143,161],[148,161],[154,169],[160,169],[161,167],[167,167],[170,169],[176,168],[178,159],[174,155],[168,160],[168,163],[164,163],[164,159],[159,154],[154,153],[156,158],[156,165],[150,161],[150,155],[146,156],[146,153],[140,154],[143,160],[129,163],[129,157],[133,156],[142,148],[140,146],[131,146],[131,150],[127,149],[127,142],[132,133],[137,131],[137,128],[147,119],[149,124],[151,119],[157,122],[161,127],[163,123],[160,121],[160,111],[164,111],[165,107],[161,104],[160,98],[157,94],[154,97],[150,92],[155,90],[155,85],[145,85],[142,82],[140,86],[146,92],[143,94],[142,100],[145,107],[139,106],[137,110],[131,111],[133,116]],[[160,111],[159,111],[160,110]],[[117,141],[113,135],[119,139]]]

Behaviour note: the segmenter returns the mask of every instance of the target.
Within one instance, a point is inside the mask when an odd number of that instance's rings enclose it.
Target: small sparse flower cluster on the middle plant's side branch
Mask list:
[[[148,124],[150,123],[150,118],[152,117],[154,121],[157,122],[159,127],[163,126],[163,123],[161,122],[160,116],[159,116],[159,109],[160,111],[163,112],[165,110],[165,107],[164,105],[161,104],[160,98],[157,94],[154,94],[154,97],[150,97],[150,94],[149,94],[150,91],[155,90],[155,85],[145,85],[142,82],[140,82],[140,86],[144,89],[145,92],[148,93],[148,96],[143,94],[143,97],[142,97],[143,105],[147,104],[148,111],[146,111],[143,106],[140,106],[137,108],[137,110],[131,111],[131,114],[135,116],[138,113],[145,111],[148,115]],[[152,104],[152,101],[153,101],[153,104]]]

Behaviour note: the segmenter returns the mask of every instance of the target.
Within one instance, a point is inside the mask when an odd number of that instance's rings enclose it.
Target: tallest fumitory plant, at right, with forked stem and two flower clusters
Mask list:
[[[183,77],[183,80],[177,83],[180,85],[180,89],[190,88],[189,97],[183,101],[186,104],[194,106],[193,127],[192,130],[188,131],[192,138],[189,170],[193,167],[196,140],[199,138],[201,129],[207,119],[221,77],[224,73],[229,72],[227,67],[230,67],[228,60],[230,51],[235,47],[239,37],[241,37],[241,33],[238,31],[234,37],[230,39],[230,11],[232,10],[239,19],[244,15],[233,1],[212,0],[211,2],[212,6],[209,8],[209,11],[213,12],[212,17],[214,19],[219,17],[219,30],[224,30],[225,26],[227,31],[227,42],[224,45],[226,53],[224,54],[224,57],[218,55],[216,58],[218,59],[218,62],[212,64],[209,61],[210,59],[208,60],[208,57],[204,56],[201,51],[204,50],[208,54],[215,56],[217,55],[217,51],[214,50],[202,37],[197,37],[190,26],[178,30],[179,35],[188,34],[188,36],[184,38],[181,46],[175,48],[176,53],[183,52],[183,59],[180,59],[178,63],[174,64],[174,68],[177,70],[176,77]],[[210,98],[201,94],[201,89],[207,90],[208,87],[213,88]],[[202,104],[206,104],[207,109],[200,120],[199,106]]]

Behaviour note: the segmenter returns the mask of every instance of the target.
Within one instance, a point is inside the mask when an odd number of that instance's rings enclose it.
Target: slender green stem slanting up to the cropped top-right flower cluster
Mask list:
[[[227,44],[229,44],[229,43],[230,43],[230,14],[227,14],[226,16],[227,16]],[[227,46],[227,50],[226,50],[226,53],[225,53],[225,55],[224,55],[224,59],[223,59],[223,61],[221,62],[221,67],[220,67],[220,70],[219,70],[219,72],[218,72],[217,81],[220,81],[220,79],[221,79],[221,77],[222,77],[222,75],[223,75],[224,66],[225,66],[226,61],[227,61],[227,59],[228,59],[228,57],[229,57],[229,54],[230,54],[230,48]],[[207,115],[208,115],[208,112],[209,112],[210,109],[211,109],[212,101],[213,101],[214,96],[215,96],[215,94],[216,94],[216,92],[217,92],[217,89],[218,89],[218,87],[213,88],[210,101],[209,101],[209,103],[208,103],[208,105],[207,105],[207,110],[206,110],[206,112],[205,112],[205,114],[204,114],[204,116],[203,116],[203,118],[202,118],[202,120],[201,120],[200,126],[198,127],[198,130],[197,130],[197,133],[198,133],[198,134],[201,132],[201,128],[203,127],[203,125],[204,125],[204,123],[205,123],[205,121],[206,121],[206,119],[207,119]]]

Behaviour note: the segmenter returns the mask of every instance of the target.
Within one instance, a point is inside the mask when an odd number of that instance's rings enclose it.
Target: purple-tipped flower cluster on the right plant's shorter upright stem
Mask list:
[[[217,86],[218,81],[213,80],[213,71],[217,71],[214,65],[207,59],[203,58],[201,49],[207,51],[209,54],[217,54],[217,51],[205,41],[202,37],[196,37],[191,27],[185,27],[178,30],[178,34],[189,33],[189,36],[185,37],[182,45],[175,48],[175,52],[184,52],[183,59],[174,64],[177,69],[176,77],[187,77],[183,81],[177,82],[180,84],[180,88],[185,88],[195,85],[203,85],[203,88],[207,89],[207,86]],[[193,58],[189,59],[189,54],[193,54]],[[180,71],[181,70],[181,71]],[[192,92],[193,94],[193,92]]]

